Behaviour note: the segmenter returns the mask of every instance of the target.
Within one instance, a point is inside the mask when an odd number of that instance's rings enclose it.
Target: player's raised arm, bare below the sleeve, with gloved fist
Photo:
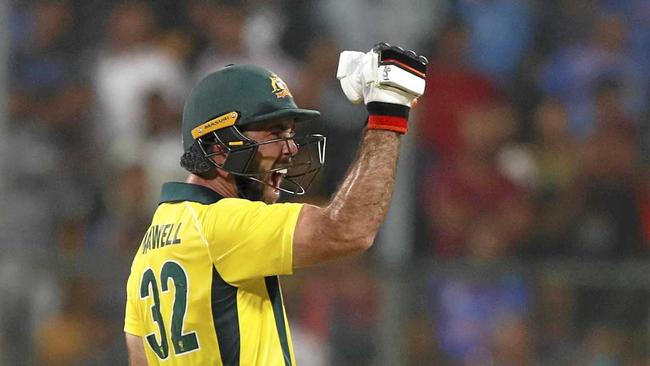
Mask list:
[[[337,77],[350,101],[366,103],[368,125],[359,154],[325,207],[305,205],[294,234],[294,267],[368,249],[388,211],[400,136],[412,101],[424,90],[426,59],[380,44],[368,53],[345,51]]]

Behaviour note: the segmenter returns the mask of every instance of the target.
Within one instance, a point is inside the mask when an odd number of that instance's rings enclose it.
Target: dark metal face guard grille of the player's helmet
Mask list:
[[[213,131],[207,136],[210,138],[206,139],[206,136],[202,136],[196,139],[196,142],[203,156],[216,168],[293,195],[305,194],[325,163],[326,138],[320,134],[258,142],[246,137],[235,126],[231,126]],[[289,148],[292,142],[298,147],[298,152],[289,162],[276,165],[266,171],[258,170],[255,158],[260,146],[285,143]],[[219,145],[221,148],[212,149],[213,145]],[[213,159],[215,156],[225,157],[224,162],[217,163]],[[267,182],[270,174],[282,175],[283,179],[279,187],[274,187]]]

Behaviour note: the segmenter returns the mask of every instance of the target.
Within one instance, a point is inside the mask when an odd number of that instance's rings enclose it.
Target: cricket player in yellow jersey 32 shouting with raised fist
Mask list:
[[[319,112],[298,108],[282,79],[251,65],[193,89],[182,121],[190,174],[163,185],[127,283],[131,365],[295,365],[278,276],[372,245],[426,64],[385,43],[341,54],[337,77],[368,119],[324,207],[275,203],[281,191],[304,193],[324,163],[325,137],[294,135]]]

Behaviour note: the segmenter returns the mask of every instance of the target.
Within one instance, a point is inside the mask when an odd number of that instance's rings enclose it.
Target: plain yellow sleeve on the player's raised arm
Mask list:
[[[212,261],[231,284],[293,272],[293,234],[302,204],[223,199],[204,221]]]

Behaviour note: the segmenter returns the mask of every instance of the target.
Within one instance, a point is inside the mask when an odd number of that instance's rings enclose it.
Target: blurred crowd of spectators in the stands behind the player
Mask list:
[[[338,54],[378,41],[430,60],[408,147],[404,364],[650,362],[650,288],[536,270],[647,262],[649,0],[10,3],[0,365],[125,364],[131,259],[160,185],[186,176],[183,101],[211,71],[267,67],[322,112],[300,128],[328,136],[304,198],[326,202],[365,118]],[[383,364],[390,276],[371,253],[286,278],[299,364]]]

